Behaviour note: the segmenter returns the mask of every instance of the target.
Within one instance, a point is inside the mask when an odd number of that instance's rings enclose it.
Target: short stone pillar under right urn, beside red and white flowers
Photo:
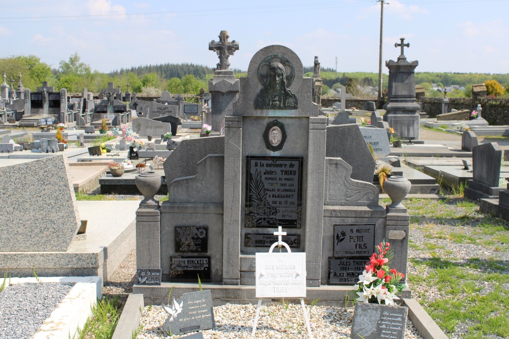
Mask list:
[[[390,243],[390,250],[394,253],[394,257],[390,260],[390,267],[405,274],[406,279],[410,215],[406,207],[392,208],[387,205],[385,211],[385,241]]]

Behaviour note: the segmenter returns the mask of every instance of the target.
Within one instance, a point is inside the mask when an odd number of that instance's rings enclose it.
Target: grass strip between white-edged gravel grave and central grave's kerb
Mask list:
[[[78,337],[111,338],[120,318],[121,303],[118,297],[103,297],[92,310],[92,316],[87,320],[83,329],[78,331]]]

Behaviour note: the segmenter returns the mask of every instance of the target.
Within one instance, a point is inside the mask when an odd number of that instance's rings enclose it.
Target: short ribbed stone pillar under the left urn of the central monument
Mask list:
[[[161,212],[154,207],[136,210],[136,269],[161,268]]]

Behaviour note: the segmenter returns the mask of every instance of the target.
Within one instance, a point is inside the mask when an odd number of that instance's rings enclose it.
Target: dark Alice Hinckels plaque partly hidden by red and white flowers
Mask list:
[[[329,284],[331,285],[355,285],[359,281],[359,275],[364,271],[365,258],[329,258]]]

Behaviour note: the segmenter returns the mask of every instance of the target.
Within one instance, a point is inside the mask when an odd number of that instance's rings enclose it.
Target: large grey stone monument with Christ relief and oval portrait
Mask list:
[[[327,128],[313,84],[287,47],[252,57],[224,136],[183,140],[164,162],[168,200],[137,210],[137,268],[161,269],[162,284],[133,293],[161,302],[173,286],[175,297],[198,290],[200,276],[212,298],[254,299],[255,254],[279,226],[306,253],[309,299],[344,300],[384,238],[406,273],[407,210],[379,205],[359,127]]]

